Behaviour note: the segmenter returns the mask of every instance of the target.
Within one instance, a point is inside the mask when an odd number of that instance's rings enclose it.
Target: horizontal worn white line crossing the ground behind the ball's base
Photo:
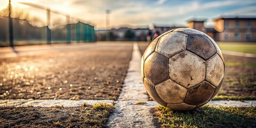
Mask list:
[[[138,101],[145,101],[143,105],[137,105]],[[16,99],[16,100],[0,100],[0,107],[45,107],[63,106],[63,107],[78,107],[87,103],[87,105],[94,105],[95,103],[112,103],[122,106],[148,106],[156,107],[159,104],[155,101],[147,100],[130,100],[130,101],[114,101],[114,100],[33,100],[33,99]],[[213,100],[208,102],[209,106],[223,106],[223,107],[256,107],[256,100]]]

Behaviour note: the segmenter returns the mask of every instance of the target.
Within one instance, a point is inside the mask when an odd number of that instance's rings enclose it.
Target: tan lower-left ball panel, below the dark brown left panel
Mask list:
[[[171,79],[155,86],[159,97],[166,103],[181,103],[186,97],[187,89]]]

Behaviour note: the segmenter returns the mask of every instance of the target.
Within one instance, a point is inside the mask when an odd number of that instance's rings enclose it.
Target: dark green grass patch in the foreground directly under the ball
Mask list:
[[[173,111],[159,106],[154,116],[161,127],[256,127],[256,107],[203,106],[193,111]]]

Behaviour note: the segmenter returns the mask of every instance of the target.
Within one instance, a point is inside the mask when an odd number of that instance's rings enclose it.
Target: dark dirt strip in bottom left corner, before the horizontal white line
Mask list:
[[[0,107],[0,127],[107,127],[113,105],[75,108]]]

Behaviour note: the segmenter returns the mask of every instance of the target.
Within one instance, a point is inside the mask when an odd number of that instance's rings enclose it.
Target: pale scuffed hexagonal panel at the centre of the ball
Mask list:
[[[183,51],[169,59],[170,78],[189,89],[205,78],[205,61],[196,54]]]

